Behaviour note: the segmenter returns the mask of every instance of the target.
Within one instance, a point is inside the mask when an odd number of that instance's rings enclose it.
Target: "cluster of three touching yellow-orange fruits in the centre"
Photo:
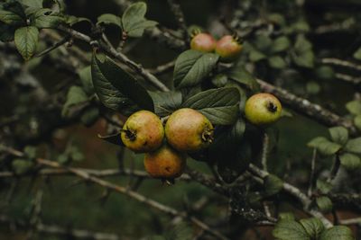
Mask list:
[[[183,173],[186,154],[206,148],[213,140],[212,123],[199,111],[174,111],[163,126],[152,111],[132,114],[121,131],[125,147],[145,153],[145,170],[154,178],[172,181]]]

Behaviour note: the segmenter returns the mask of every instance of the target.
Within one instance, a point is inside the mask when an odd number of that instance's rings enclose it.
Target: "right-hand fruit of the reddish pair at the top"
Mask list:
[[[226,35],[217,41],[216,53],[222,62],[233,62],[239,57],[242,44],[233,36]]]

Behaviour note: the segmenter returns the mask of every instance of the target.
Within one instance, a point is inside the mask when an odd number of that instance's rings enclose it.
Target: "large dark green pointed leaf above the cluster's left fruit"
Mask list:
[[[98,98],[110,109],[130,115],[140,109],[154,111],[153,100],[141,84],[112,59],[93,55],[91,76]]]

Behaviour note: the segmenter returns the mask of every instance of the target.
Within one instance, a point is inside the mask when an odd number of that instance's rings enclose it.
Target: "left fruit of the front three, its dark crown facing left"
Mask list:
[[[136,111],[125,121],[121,138],[134,152],[154,151],[164,138],[162,121],[152,111]]]

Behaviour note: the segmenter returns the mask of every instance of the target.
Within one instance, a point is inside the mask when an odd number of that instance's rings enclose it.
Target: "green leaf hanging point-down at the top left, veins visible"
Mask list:
[[[34,55],[38,46],[39,31],[37,28],[29,26],[17,29],[14,35],[16,49],[25,60],[29,60]]]

